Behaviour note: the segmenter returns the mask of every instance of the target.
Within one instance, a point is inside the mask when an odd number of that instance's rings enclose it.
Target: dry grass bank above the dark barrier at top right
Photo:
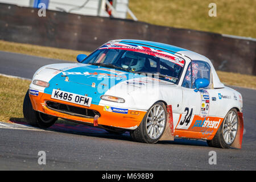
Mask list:
[[[216,17],[208,15],[212,2]],[[256,38],[255,0],[130,0],[129,7],[142,22]]]

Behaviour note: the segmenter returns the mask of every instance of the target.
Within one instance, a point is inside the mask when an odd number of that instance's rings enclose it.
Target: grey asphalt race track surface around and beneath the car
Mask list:
[[[63,63],[0,51],[0,73],[32,78],[42,65]],[[243,96],[245,132],[242,149],[209,147],[203,140],[144,144],[128,133],[114,135],[84,126],[53,125],[41,130],[19,124],[0,123],[0,170],[255,170],[256,90],[234,88]],[[46,164],[38,164],[39,151]],[[215,151],[217,164],[209,164]]]

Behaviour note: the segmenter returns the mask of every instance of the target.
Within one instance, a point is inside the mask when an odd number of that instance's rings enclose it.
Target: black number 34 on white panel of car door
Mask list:
[[[176,129],[185,129],[187,130],[193,121],[193,107],[185,107],[184,113],[181,115],[180,121]]]

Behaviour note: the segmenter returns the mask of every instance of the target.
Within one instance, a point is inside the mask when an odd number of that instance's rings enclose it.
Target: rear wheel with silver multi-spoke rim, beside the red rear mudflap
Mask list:
[[[207,140],[210,147],[230,148],[236,139],[238,129],[238,114],[236,109],[231,109],[226,114],[224,121],[219,127],[212,140]]]

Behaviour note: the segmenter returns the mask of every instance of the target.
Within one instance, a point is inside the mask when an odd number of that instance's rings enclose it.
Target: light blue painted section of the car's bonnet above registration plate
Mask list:
[[[110,89],[110,86],[117,85],[119,82],[127,81],[127,78],[144,77],[142,75],[129,73],[125,71],[121,74],[114,74],[109,72],[110,68],[98,67],[96,65],[86,65],[84,67],[71,68],[67,71],[58,73],[49,81],[49,87],[44,89],[44,93],[52,94],[53,89],[60,89],[65,92],[71,92],[80,94],[82,96],[92,97],[92,104],[98,105],[100,102],[100,96],[105,94]],[[112,69],[114,71],[114,69]],[[91,75],[88,75],[91,73]],[[99,74],[102,75],[99,75]],[[109,74],[110,76],[106,75]],[[65,81],[66,76],[68,81]],[[95,87],[92,86],[93,82]],[[110,85],[109,83],[113,84]]]

